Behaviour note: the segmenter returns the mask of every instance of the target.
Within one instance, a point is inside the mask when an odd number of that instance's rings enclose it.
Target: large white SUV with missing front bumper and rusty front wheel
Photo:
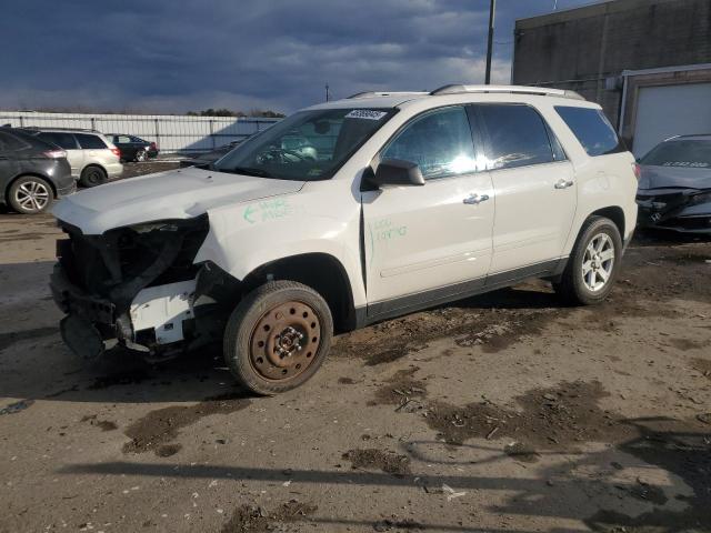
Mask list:
[[[220,341],[236,378],[273,394],[313,375],[334,332],[525,278],[600,302],[635,191],[634,158],[575,93],[362,93],[209,168],[62,200],[51,286],[78,353],[118,340],[156,359]]]

